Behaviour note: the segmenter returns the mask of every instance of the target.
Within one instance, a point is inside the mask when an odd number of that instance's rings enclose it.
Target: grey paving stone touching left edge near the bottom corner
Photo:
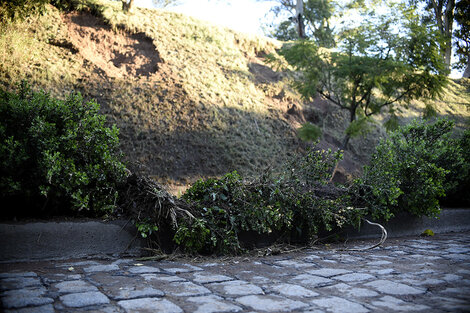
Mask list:
[[[46,289],[15,289],[2,293],[1,303],[6,309],[24,308],[27,306],[40,306],[54,302],[51,298],[45,297]]]

